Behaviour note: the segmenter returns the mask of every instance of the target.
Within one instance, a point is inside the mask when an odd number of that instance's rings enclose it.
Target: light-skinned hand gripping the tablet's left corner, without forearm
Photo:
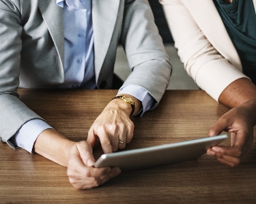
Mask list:
[[[70,183],[79,189],[94,188],[121,173],[115,167],[94,168],[94,156],[89,143],[81,141],[76,143],[68,160],[68,177]]]

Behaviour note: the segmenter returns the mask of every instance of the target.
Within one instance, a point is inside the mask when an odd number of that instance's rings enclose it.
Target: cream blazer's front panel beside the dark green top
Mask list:
[[[256,5],[256,0],[253,0]],[[236,68],[242,70],[240,57],[212,0],[182,0],[210,43]],[[210,24],[209,24],[210,23]]]

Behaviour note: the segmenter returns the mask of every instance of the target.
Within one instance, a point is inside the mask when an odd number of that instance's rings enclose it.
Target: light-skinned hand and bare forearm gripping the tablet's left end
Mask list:
[[[35,141],[34,151],[49,160],[67,166],[70,183],[78,189],[94,188],[119,175],[119,168],[94,168],[89,143],[72,142],[52,129],[44,130]]]

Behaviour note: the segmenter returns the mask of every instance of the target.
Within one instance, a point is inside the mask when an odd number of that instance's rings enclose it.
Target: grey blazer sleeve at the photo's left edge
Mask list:
[[[22,32],[18,7],[12,1],[0,1],[0,139],[3,142],[8,142],[27,121],[42,119],[18,99]]]

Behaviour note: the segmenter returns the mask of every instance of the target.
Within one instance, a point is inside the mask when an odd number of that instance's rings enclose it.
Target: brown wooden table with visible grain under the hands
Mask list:
[[[116,90],[25,90],[20,100],[73,141],[86,139]],[[99,100],[100,98],[100,100]],[[132,143],[150,147],[207,136],[229,109],[204,91],[166,91],[154,111],[134,117]],[[229,139],[223,143],[229,144]],[[101,147],[95,150],[98,158]],[[256,147],[231,168],[203,155],[197,160],[121,173],[102,186],[76,190],[66,168],[23,149],[0,146],[0,203],[256,203]]]

